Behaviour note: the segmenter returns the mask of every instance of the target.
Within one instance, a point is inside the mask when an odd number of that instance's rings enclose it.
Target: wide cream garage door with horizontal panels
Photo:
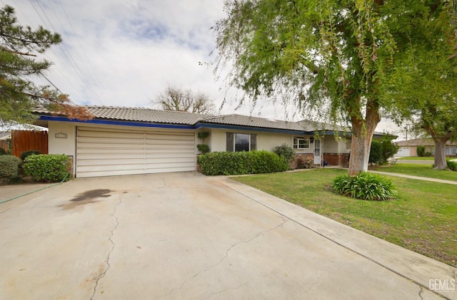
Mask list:
[[[192,132],[78,127],[76,177],[194,171]]]

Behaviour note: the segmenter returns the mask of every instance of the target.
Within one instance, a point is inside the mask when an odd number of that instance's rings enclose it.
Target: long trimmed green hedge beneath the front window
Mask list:
[[[197,162],[205,175],[243,175],[288,170],[285,158],[266,150],[211,152],[200,155]]]

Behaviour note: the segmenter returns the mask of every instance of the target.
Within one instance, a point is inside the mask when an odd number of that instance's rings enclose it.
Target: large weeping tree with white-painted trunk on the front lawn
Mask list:
[[[228,0],[226,18],[214,26],[216,71],[233,66],[229,85],[254,104],[280,95],[301,110],[325,110],[335,123],[348,122],[355,175],[368,168],[381,112],[396,110],[386,88],[396,76],[394,62],[450,6],[439,0]]]

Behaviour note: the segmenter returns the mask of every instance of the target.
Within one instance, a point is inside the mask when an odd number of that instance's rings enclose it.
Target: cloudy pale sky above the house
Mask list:
[[[22,25],[44,26],[62,43],[41,58],[54,62],[46,78],[78,105],[154,108],[166,86],[209,95],[221,114],[287,120],[293,108],[246,103],[239,91],[216,80],[211,31],[224,18],[224,0],[0,0],[16,10]],[[37,82],[49,84],[43,79]],[[297,117],[296,117],[297,118]],[[303,118],[306,118],[304,116]],[[386,120],[377,131],[397,133]]]

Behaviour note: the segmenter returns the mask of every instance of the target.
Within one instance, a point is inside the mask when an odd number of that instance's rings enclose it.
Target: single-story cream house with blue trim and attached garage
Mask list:
[[[336,139],[331,125],[287,122],[246,115],[202,115],[149,108],[86,107],[94,118],[70,120],[36,108],[35,124],[49,128],[49,153],[74,159],[76,177],[196,170],[197,134],[208,132],[212,152],[268,150],[285,143],[316,165],[347,165],[348,138]],[[337,128],[338,136],[348,128]],[[376,133],[375,136],[382,136]]]

